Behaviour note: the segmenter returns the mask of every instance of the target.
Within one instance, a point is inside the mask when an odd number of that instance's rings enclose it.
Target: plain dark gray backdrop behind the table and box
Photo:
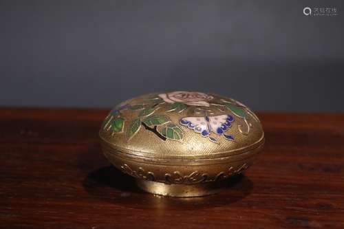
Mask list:
[[[112,107],[182,89],[259,110],[344,111],[343,1],[0,4],[3,106]]]

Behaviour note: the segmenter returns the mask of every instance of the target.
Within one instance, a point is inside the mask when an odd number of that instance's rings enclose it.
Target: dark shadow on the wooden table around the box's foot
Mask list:
[[[113,204],[131,208],[214,208],[244,199],[252,190],[252,182],[244,175],[236,175],[226,182],[223,190],[205,197],[163,197],[140,190],[135,179],[114,166],[105,166],[89,173],[83,186],[87,193]]]

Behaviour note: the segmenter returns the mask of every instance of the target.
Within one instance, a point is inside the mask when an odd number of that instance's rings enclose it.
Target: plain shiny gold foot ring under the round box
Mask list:
[[[164,184],[136,179],[136,184],[148,193],[170,197],[200,197],[218,193],[222,182],[206,182],[201,184]]]

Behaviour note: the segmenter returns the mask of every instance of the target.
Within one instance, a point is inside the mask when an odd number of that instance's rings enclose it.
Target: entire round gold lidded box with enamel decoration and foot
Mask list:
[[[252,164],[264,144],[248,107],[215,94],[175,91],[122,102],[99,132],[107,159],[149,193],[210,195]]]

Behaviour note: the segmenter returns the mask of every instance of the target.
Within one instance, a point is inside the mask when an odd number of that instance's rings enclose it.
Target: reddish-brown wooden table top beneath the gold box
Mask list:
[[[258,112],[266,146],[217,195],[138,190],[100,151],[105,109],[0,109],[0,228],[344,228],[344,114]]]

